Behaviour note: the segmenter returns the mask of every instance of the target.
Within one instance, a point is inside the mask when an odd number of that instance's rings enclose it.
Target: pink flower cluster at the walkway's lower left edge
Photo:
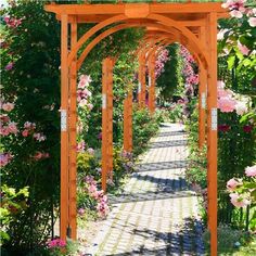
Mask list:
[[[97,182],[91,176],[86,177],[86,183],[88,185],[88,193],[97,201],[98,215],[101,218],[105,218],[110,213],[110,207],[107,205],[107,196],[104,194],[103,190],[98,190]]]

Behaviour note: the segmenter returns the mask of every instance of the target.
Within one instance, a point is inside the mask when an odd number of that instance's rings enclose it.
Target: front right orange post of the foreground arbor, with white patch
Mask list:
[[[207,177],[210,255],[217,256],[217,14],[208,14]]]

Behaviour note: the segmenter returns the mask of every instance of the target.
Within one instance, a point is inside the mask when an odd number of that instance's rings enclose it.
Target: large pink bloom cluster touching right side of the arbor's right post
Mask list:
[[[218,91],[218,108],[222,113],[233,112],[235,110],[235,105],[238,104],[236,100],[233,98],[233,92],[231,90],[225,89],[225,82],[217,82]]]

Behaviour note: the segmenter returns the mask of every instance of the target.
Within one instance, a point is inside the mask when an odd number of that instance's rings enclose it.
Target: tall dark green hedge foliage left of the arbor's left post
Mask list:
[[[50,232],[53,205],[59,204],[60,167],[60,26],[52,14],[43,11],[41,1],[18,0],[1,14],[22,18],[15,28],[4,29],[5,47],[1,49],[2,97],[15,102],[10,118],[17,124],[16,136],[4,137],[2,148],[12,154],[12,161],[2,169],[2,182],[20,190],[28,187],[29,197],[18,221],[10,222],[10,240],[5,247],[22,255],[36,244],[43,243]],[[52,36],[54,35],[54,37]],[[11,71],[4,67],[13,62]],[[37,132],[47,140],[38,142],[33,135],[22,136],[24,124],[36,124]],[[34,155],[44,152],[47,159],[36,161]]]

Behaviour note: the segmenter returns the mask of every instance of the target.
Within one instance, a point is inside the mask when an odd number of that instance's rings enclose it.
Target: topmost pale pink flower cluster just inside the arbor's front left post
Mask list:
[[[90,76],[80,76],[77,89],[77,102],[80,107],[88,107],[89,110],[92,110],[93,105],[89,102],[89,99],[91,98],[91,91],[88,89],[90,82]]]

